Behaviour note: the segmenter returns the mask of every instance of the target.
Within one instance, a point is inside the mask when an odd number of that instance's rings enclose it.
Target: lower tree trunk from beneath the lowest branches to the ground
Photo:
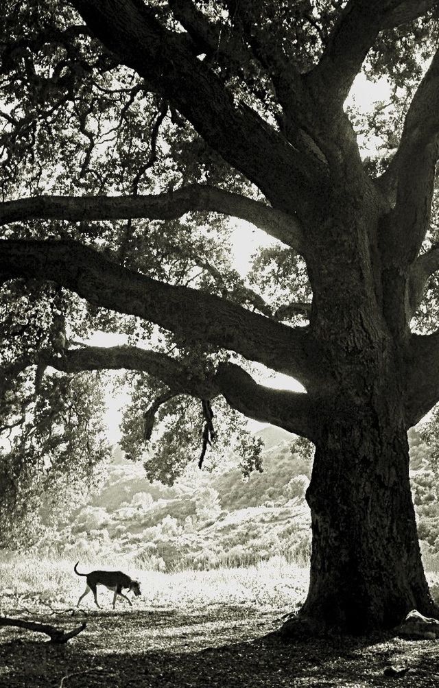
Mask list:
[[[405,431],[372,424],[326,429],[310,488],[310,589],[301,618],[319,630],[364,634],[435,608],[411,502]]]

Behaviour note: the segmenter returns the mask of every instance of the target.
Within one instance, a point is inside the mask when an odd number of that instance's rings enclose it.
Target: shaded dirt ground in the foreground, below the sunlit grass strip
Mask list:
[[[3,616],[65,630],[86,621],[65,645],[0,628],[1,688],[311,688],[439,686],[439,641],[331,638],[287,642],[270,634],[275,610],[248,605],[205,608],[72,610]],[[391,667],[407,669],[388,676]]]

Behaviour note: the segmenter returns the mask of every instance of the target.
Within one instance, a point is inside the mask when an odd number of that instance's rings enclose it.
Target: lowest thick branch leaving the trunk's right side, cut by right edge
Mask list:
[[[406,424],[409,428],[439,401],[439,331],[427,336],[411,336],[406,385]]]

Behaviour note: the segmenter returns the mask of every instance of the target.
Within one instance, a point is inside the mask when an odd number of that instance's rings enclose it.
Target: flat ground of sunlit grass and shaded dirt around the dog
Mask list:
[[[387,686],[385,670],[406,666],[399,686],[437,686],[437,641],[380,637],[285,641],[273,634],[281,616],[305,599],[308,570],[282,557],[249,568],[136,570],[133,606],[98,588],[76,609],[85,579],[74,561],[4,557],[0,563],[1,615],[65,631],[85,630],[63,645],[19,628],[0,628],[1,688],[319,687]],[[81,571],[102,566],[83,561]],[[430,574],[437,590],[437,575]],[[390,679],[392,680],[392,679]]]

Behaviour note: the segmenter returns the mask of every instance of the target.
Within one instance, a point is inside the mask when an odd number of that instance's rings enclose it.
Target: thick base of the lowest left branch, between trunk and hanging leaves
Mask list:
[[[308,394],[258,385],[235,363],[219,365],[215,383],[228,404],[244,416],[314,438],[317,413]]]

